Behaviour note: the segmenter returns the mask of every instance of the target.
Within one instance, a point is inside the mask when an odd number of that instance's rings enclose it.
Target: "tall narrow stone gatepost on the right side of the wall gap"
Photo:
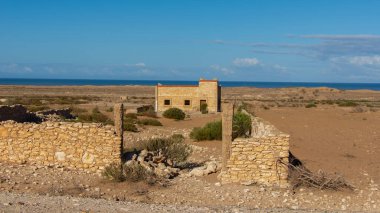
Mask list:
[[[232,118],[234,116],[234,105],[224,103],[222,105],[222,169],[227,169],[227,161],[230,158],[232,143]]]

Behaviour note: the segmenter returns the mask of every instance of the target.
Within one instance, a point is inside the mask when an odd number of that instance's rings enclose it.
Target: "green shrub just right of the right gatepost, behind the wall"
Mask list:
[[[249,137],[251,135],[251,129],[251,116],[242,112],[237,112],[232,121],[232,138]]]

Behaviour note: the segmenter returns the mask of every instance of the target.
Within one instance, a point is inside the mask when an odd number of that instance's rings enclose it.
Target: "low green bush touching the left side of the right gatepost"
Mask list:
[[[195,127],[190,138],[195,141],[222,140],[222,121],[207,123],[204,127]]]

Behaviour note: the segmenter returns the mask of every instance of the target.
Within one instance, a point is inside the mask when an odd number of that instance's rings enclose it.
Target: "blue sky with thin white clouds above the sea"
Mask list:
[[[380,82],[378,0],[0,0],[0,78]]]

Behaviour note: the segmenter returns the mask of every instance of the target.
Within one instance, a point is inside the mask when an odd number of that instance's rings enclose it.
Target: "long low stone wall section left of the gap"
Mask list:
[[[113,126],[69,122],[0,122],[0,161],[61,165],[99,172],[120,162],[121,137]]]

